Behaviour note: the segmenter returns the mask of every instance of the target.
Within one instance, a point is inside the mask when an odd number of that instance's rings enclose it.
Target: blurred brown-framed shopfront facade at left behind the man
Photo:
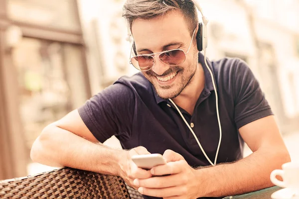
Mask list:
[[[0,0],[0,179],[43,127],[91,97],[76,0]]]

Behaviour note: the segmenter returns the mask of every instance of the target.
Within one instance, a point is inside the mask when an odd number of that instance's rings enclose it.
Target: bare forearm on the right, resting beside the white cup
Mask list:
[[[250,156],[231,164],[197,170],[202,182],[199,189],[207,197],[244,194],[273,186],[270,174],[290,162],[288,151],[260,149]]]

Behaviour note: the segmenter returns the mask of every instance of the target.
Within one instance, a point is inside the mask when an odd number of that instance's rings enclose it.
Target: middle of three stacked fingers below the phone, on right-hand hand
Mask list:
[[[182,175],[179,174],[134,180],[135,186],[145,188],[167,188],[180,186],[183,183],[185,183],[185,180],[182,180]]]

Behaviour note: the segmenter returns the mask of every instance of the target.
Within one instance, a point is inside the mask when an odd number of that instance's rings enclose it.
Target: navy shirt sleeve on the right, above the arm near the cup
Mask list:
[[[234,82],[234,119],[238,129],[252,121],[273,114],[259,82],[244,61],[239,60],[235,65]]]

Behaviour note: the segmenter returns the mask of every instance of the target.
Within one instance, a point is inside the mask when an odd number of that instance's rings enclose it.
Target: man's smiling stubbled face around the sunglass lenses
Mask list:
[[[192,39],[185,19],[178,11],[171,11],[150,20],[136,19],[132,33],[138,55],[177,48],[186,53]],[[158,56],[154,58],[154,66],[143,74],[154,86],[159,97],[175,98],[183,91],[197,69],[197,53],[197,48],[192,42],[186,60],[179,66],[166,65]]]

